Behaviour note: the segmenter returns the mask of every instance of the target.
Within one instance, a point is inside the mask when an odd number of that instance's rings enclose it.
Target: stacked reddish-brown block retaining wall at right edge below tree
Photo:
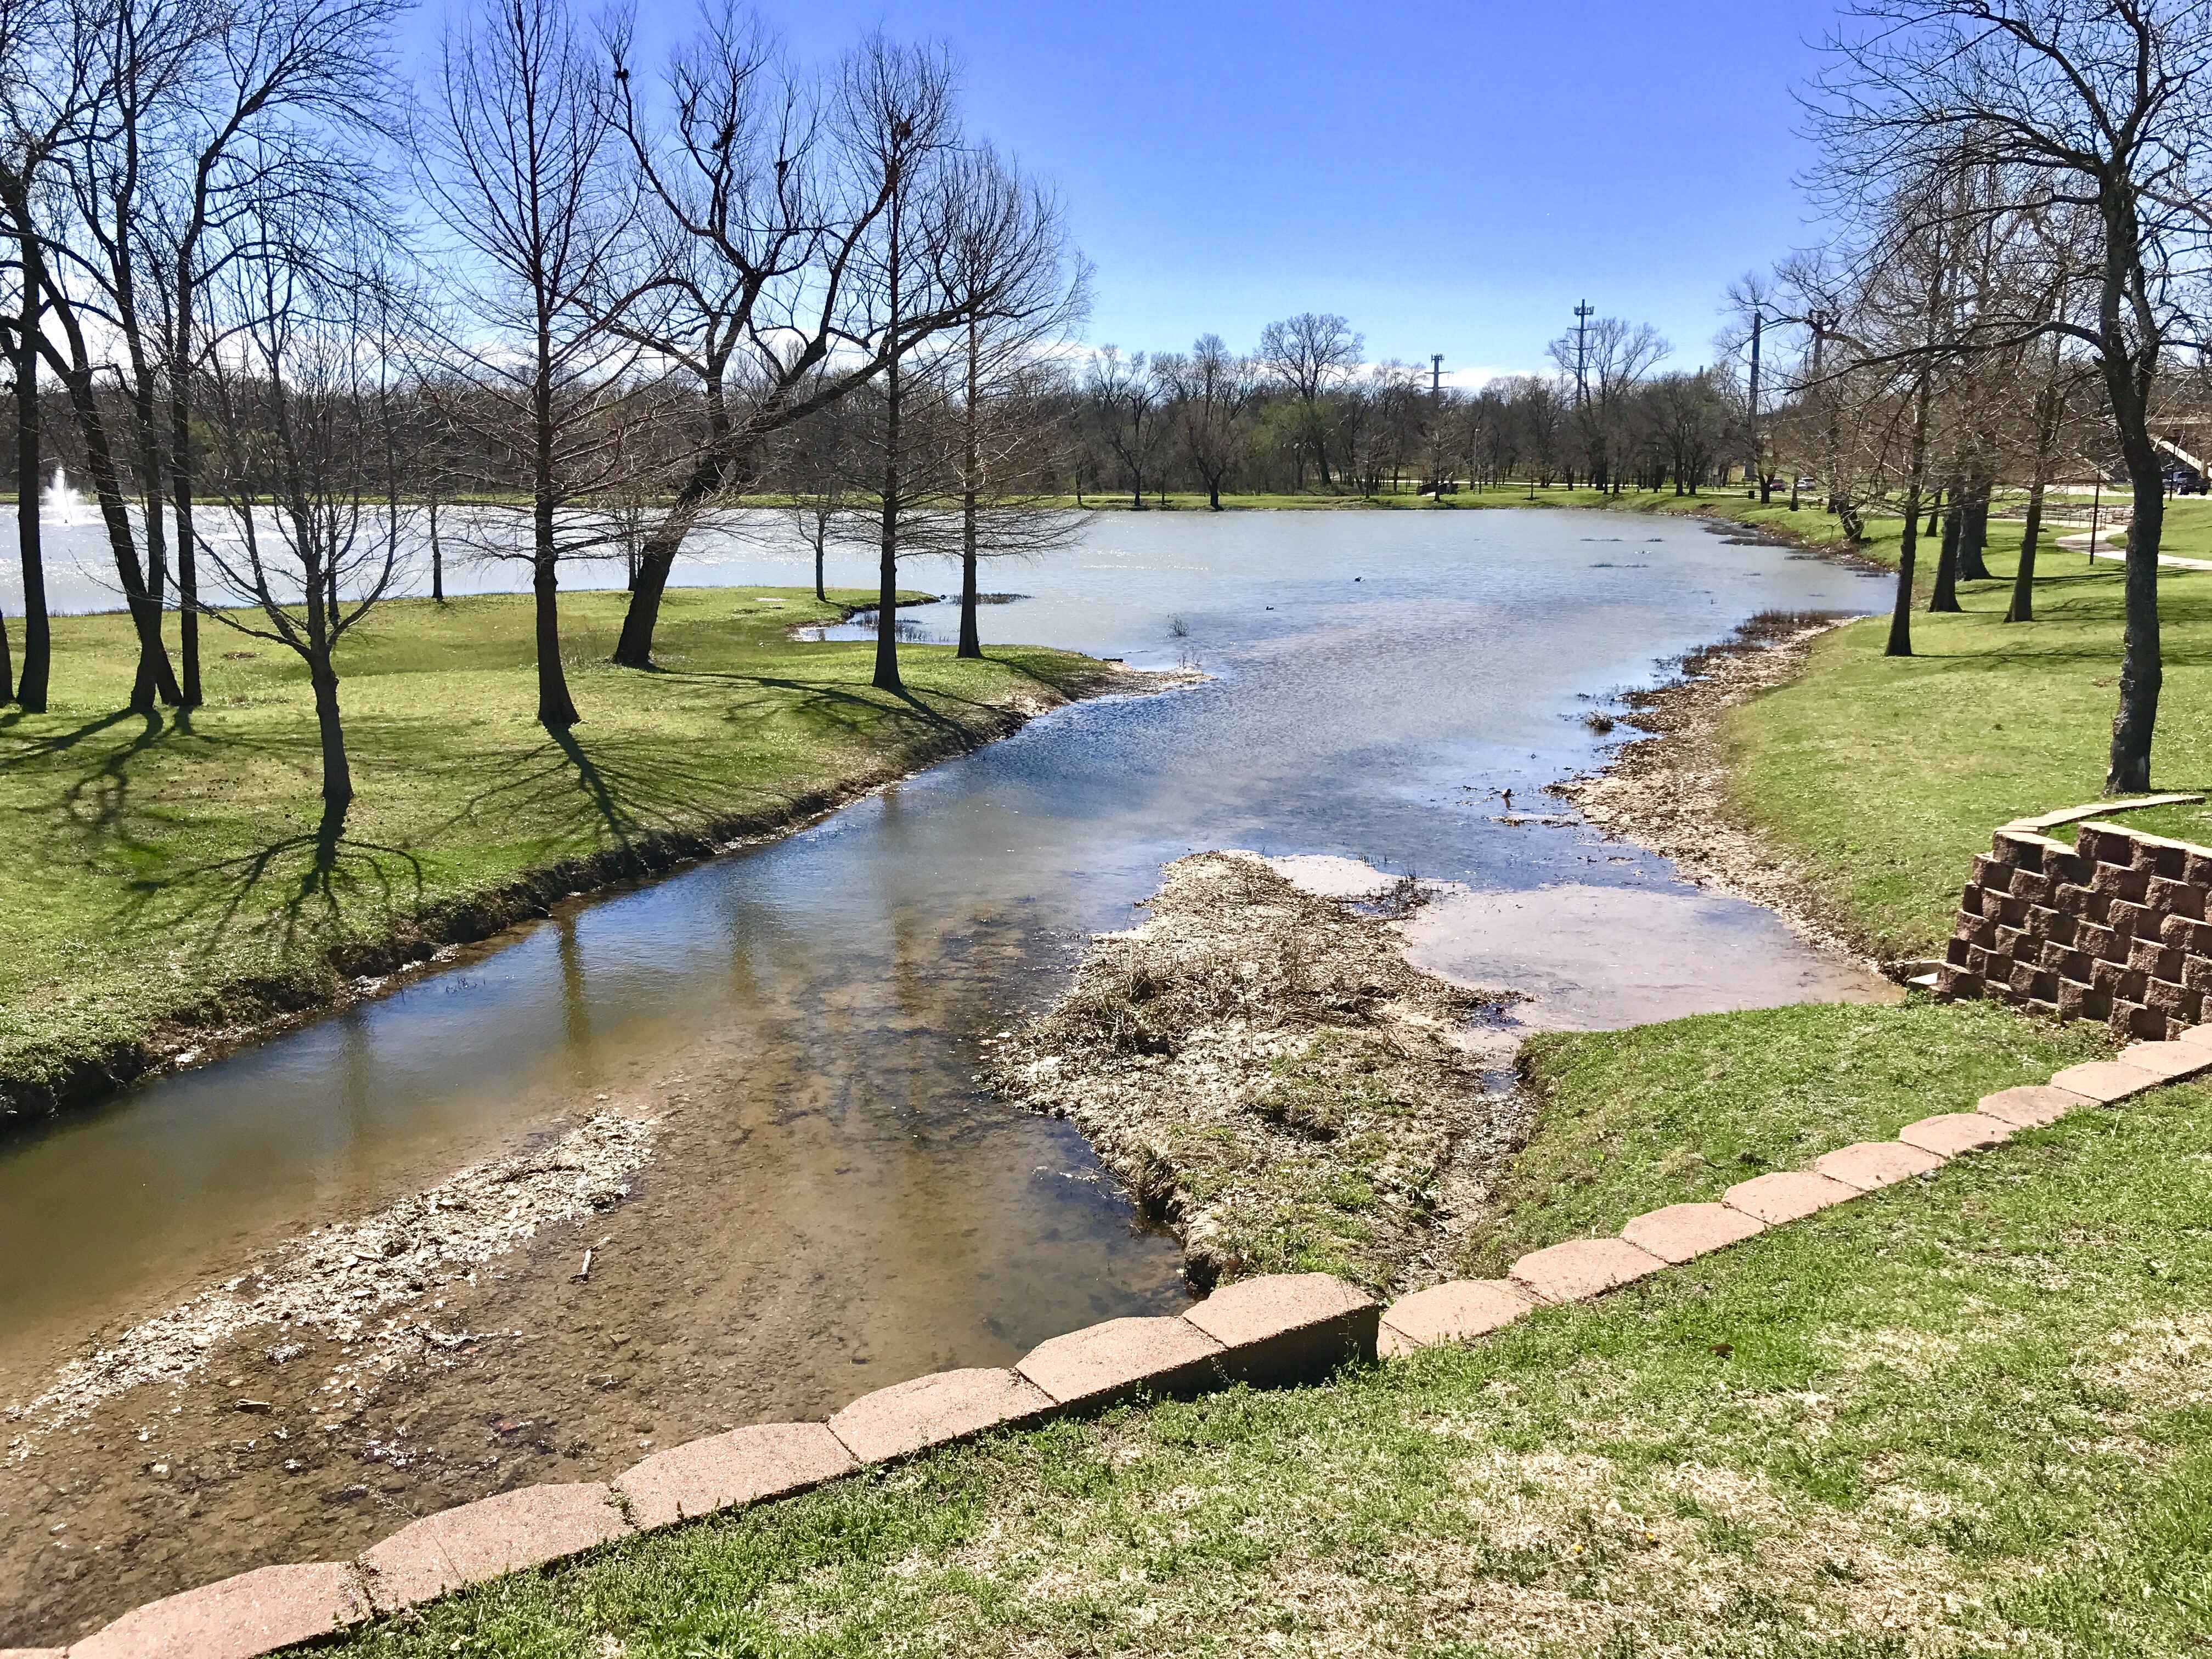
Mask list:
[[[1973,860],[1936,989],[2104,1020],[2152,1042],[2203,1022],[2212,847],[2101,821],[2079,825],[2068,845],[2046,827],[2008,823]]]

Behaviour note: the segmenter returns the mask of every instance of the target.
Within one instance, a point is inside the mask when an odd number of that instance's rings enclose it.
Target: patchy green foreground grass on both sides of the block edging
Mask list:
[[[1688,1190],[1648,1179],[1679,1124],[1624,1110],[1628,1079],[1703,1077],[1708,1130],[1796,1159],[2075,1051],[1982,1011],[2002,1029],[1975,1029],[1993,1057],[1969,1082],[1927,1053],[1940,1013],[1548,1044],[1546,1110],[1610,1121],[1628,1168],[1551,1219],[1610,1225]],[[1761,1064],[1776,1037],[1785,1071]],[[1776,1124],[1809,1124],[1807,1144],[1776,1144]],[[998,1436],[336,1646],[2194,1655],[2212,1624],[2208,1208],[2212,1091],[2166,1088],[1471,1347]]]

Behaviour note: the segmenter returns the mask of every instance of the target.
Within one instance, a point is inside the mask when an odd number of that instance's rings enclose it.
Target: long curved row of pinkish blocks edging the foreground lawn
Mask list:
[[[263,1566],[148,1601],[62,1648],[0,1659],[257,1659],[449,1590],[582,1555],[635,1531],[772,1502],[995,1427],[1042,1422],[1144,1394],[1323,1378],[1349,1358],[1486,1336],[1544,1305],[1604,1296],[1767,1228],[1798,1221],[1953,1157],[2053,1124],[2086,1104],[2212,1071],[2212,1026],[2068,1066],[2051,1086],[1984,1095],[1971,1113],[1907,1124],[1736,1181],[1719,1203],[1670,1203],[1615,1239],[1568,1239],[1506,1279],[1449,1281],[1387,1310],[1329,1274],[1270,1274],[1179,1316],[1110,1318],[1033,1347],[1011,1369],[938,1371],[865,1394],[827,1422],[763,1422],[659,1451],[613,1482],[522,1486],[403,1526],[358,1562]]]

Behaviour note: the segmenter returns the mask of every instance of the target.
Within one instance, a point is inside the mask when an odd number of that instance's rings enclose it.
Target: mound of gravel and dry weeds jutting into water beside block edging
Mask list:
[[[1097,933],[1073,989],[987,1079],[1071,1119],[1183,1239],[1197,1285],[1334,1272],[1378,1292],[1451,1274],[1520,1137],[1484,1091],[1504,1000],[1405,960],[1391,918],[1248,852],[1166,867],[1152,920]]]

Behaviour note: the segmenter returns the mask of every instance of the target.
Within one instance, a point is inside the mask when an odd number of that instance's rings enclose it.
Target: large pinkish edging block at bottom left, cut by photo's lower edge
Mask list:
[[[261,1566],[133,1608],[69,1650],[84,1659],[254,1659],[367,1617],[352,1562]]]

